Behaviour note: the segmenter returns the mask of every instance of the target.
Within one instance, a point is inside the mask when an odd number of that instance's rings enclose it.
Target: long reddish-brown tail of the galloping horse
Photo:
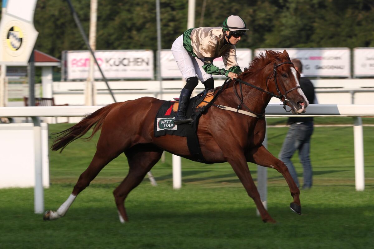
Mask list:
[[[68,144],[82,137],[84,134],[86,134],[91,129],[91,127],[94,126],[91,136],[83,138],[85,140],[90,140],[93,137],[93,135],[95,135],[95,133],[101,129],[101,126],[104,123],[104,119],[108,115],[108,113],[111,111],[111,109],[113,109],[114,106],[117,106],[118,104],[119,103],[113,103],[113,104],[104,106],[103,108],[100,108],[97,111],[86,115],[85,118],[83,118],[76,125],[64,131],[53,133],[53,135],[58,135],[58,136],[55,137],[55,140],[53,141],[51,149],[52,150],[61,149],[60,151],[61,153],[62,150],[64,150],[64,148]]]

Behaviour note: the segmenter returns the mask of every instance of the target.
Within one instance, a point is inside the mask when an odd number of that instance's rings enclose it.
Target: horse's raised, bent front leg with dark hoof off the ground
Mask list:
[[[291,174],[289,174],[287,166],[281,160],[273,156],[263,145],[247,152],[246,158],[248,162],[274,168],[283,175],[288,184],[291,196],[294,198],[294,201],[290,204],[290,208],[297,214],[301,214],[300,190],[294,179],[292,179]]]

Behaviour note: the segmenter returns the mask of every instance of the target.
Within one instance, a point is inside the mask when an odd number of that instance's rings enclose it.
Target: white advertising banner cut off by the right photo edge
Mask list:
[[[374,47],[353,49],[353,64],[355,77],[374,76]]]

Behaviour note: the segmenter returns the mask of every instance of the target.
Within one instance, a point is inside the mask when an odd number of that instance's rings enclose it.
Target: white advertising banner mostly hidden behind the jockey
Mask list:
[[[244,71],[248,67],[252,59],[252,50],[250,49],[236,49],[237,63]],[[225,68],[222,57],[216,58],[213,64],[219,68]],[[174,56],[171,50],[161,50],[160,53],[161,77],[162,78],[181,78],[182,74],[178,69]],[[213,75],[214,77],[224,77],[221,75]]]

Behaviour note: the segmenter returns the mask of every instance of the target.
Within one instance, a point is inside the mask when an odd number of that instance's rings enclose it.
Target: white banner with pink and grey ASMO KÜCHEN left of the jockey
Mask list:
[[[89,73],[89,51],[67,51],[65,80],[86,80]],[[95,57],[105,78],[154,78],[152,50],[96,50]],[[95,79],[101,79],[95,64]]]

